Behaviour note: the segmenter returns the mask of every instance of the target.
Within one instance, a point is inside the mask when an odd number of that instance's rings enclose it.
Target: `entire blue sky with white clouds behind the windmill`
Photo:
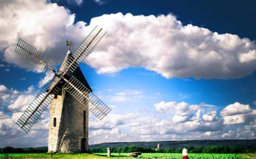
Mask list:
[[[89,144],[255,139],[256,2],[0,0],[0,147],[48,144],[48,109],[26,134],[15,122],[49,78],[15,53],[19,38],[60,63],[96,25],[82,63],[112,108],[89,118]]]

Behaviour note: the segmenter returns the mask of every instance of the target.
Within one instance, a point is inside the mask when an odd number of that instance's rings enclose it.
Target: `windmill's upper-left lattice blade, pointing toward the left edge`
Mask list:
[[[54,67],[57,65],[55,61],[48,58],[46,55],[35,49],[33,46],[27,44],[27,42],[20,38],[15,52],[27,59],[27,61],[38,67],[39,70],[43,71],[47,75],[50,75],[52,71],[55,71]]]

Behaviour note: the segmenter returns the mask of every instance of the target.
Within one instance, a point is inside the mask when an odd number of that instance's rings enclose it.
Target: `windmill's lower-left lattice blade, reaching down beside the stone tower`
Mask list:
[[[47,106],[54,98],[54,95],[60,91],[60,88],[56,87],[59,80],[60,78],[57,80],[57,82],[48,81],[48,83],[44,85],[43,89],[18,119],[16,124],[18,124],[18,126],[24,131],[30,131],[31,127],[35,124],[40,115],[42,115],[43,111],[46,110]]]

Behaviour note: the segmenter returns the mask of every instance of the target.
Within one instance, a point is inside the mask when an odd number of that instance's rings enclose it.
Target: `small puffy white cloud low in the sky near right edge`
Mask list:
[[[249,105],[240,104],[240,102],[235,102],[226,106],[221,112],[221,116],[236,115],[242,113],[248,113],[252,111]]]

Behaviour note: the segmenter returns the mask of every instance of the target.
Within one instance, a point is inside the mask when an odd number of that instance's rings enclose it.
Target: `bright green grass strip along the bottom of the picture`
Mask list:
[[[18,154],[9,154],[9,158],[51,158],[51,154],[48,153],[18,153]],[[242,158],[255,158],[254,154],[189,154],[189,159],[242,159]],[[4,154],[0,154],[0,158],[5,158]],[[86,154],[86,153],[72,153],[72,154],[53,154],[53,158],[61,159],[73,159],[73,158],[92,158],[92,159],[104,159],[108,158],[106,153],[95,153],[95,154]],[[121,153],[121,156],[118,153],[112,153],[112,157],[115,159],[125,159],[133,158],[127,156],[127,153]],[[182,154],[179,153],[142,153],[138,158],[144,159],[181,159]]]

